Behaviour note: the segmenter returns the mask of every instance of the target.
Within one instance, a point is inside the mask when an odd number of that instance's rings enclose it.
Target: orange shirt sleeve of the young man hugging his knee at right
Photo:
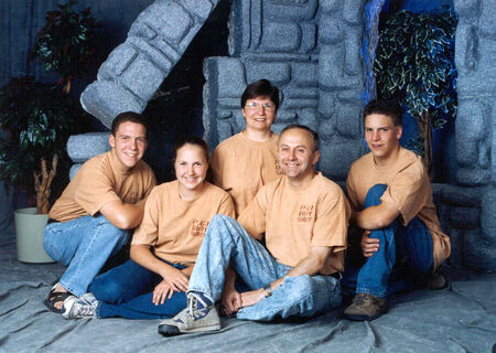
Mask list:
[[[425,204],[429,195],[429,180],[421,162],[410,164],[388,181],[388,189],[380,201],[393,204],[407,225]]]

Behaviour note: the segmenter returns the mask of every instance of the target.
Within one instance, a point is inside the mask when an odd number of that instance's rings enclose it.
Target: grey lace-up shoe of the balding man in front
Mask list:
[[[164,336],[217,330],[220,330],[217,310],[212,301],[197,292],[187,295],[187,307],[183,311],[159,324],[159,333]]]

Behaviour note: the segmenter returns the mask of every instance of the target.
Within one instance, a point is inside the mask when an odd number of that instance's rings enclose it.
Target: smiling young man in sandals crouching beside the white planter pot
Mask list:
[[[141,161],[147,127],[136,113],[119,114],[109,137],[111,150],[83,164],[55,202],[43,245],[54,259],[68,266],[45,304],[62,312],[65,299],[80,297],[107,259],[141,223],[144,202],[155,185],[150,167]]]

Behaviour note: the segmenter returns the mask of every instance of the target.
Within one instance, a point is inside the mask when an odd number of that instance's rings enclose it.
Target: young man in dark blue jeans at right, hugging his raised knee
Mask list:
[[[420,157],[399,145],[401,107],[374,100],[365,107],[364,118],[371,152],[353,163],[346,180],[351,222],[365,229],[358,240],[362,261],[347,256],[343,280],[345,288],[356,286],[353,303],[344,311],[349,320],[378,318],[386,310],[387,295],[414,288],[450,256],[450,238],[441,231],[429,175]],[[401,280],[390,282],[395,277]],[[440,276],[432,282],[444,285]]]

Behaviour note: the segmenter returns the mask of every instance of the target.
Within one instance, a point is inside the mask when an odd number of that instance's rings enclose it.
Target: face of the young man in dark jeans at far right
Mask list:
[[[401,125],[395,126],[387,115],[370,114],[365,117],[365,140],[376,162],[396,159],[402,131]]]

